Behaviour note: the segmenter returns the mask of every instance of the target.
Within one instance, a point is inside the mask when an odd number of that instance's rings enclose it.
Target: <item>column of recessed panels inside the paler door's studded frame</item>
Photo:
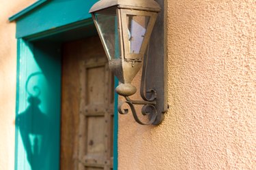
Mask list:
[[[104,143],[107,137],[106,133],[104,133],[106,129],[104,108],[105,100],[107,99],[104,82],[106,78],[104,63],[106,61],[102,63],[101,58],[99,60],[87,58],[85,62],[87,63],[87,80],[85,80],[87,84],[85,86],[88,98],[86,103],[88,112],[85,113],[88,123],[85,163],[91,164],[87,165],[87,167],[102,167],[105,162],[104,152],[106,146]]]

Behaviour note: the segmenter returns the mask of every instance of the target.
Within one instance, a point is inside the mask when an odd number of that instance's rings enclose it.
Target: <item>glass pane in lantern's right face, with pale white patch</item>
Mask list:
[[[127,15],[128,41],[131,54],[139,54],[150,16]]]

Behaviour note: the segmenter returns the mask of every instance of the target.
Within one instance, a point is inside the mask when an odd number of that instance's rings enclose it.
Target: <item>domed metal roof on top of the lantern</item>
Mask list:
[[[160,11],[160,6],[154,0],[100,0],[91,7],[89,13],[113,6],[132,10]]]

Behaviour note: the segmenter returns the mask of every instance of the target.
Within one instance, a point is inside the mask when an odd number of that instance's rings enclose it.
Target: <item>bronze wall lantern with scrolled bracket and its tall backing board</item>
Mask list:
[[[100,0],[89,11],[109,60],[109,68],[120,82],[115,91],[126,99],[119,103],[118,111],[128,114],[128,109],[122,108],[124,103],[128,104],[136,122],[143,125],[160,124],[168,109],[164,3],[162,0]],[[150,39],[154,41],[150,42]],[[142,100],[135,101],[130,99],[137,92],[132,80],[142,66]],[[141,116],[134,105],[142,105],[141,115],[149,119],[147,122],[139,119]]]

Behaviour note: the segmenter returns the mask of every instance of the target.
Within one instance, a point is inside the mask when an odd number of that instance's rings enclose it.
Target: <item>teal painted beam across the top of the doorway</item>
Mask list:
[[[16,37],[51,31],[91,18],[89,9],[97,0],[52,0],[16,20]]]

